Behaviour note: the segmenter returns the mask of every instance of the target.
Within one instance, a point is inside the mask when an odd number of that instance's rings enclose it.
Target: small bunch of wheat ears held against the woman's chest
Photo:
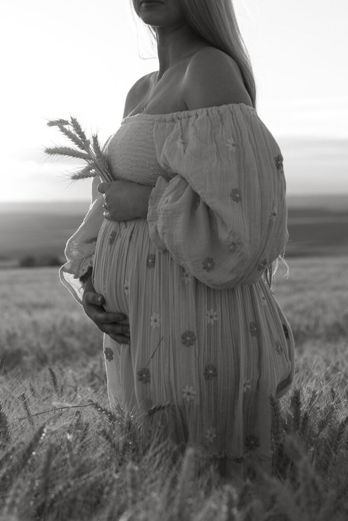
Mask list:
[[[99,144],[98,134],[92,134],[92,139],[86,137],[80,123],[76,118],[55,119],[47,122],[49,127],[58,129],[74,143],[71,146],[53,146],[44,148],[45,154],[50,156],[74,157],[82,159],[87,166],[70,175],[70,179],[87,179],[99,176],[102,181],[113,181],[107,157]]]

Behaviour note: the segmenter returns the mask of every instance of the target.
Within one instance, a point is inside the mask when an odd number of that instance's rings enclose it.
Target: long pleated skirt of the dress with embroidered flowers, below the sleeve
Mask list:
[[[156,428],[230,477],[270,472],[270,395],[291,387],[294,339],[265,281],[209,288],[134,219],[104,221],[93,284],[129,319],[129,345],[104,336],[112,410],[158,416]]]

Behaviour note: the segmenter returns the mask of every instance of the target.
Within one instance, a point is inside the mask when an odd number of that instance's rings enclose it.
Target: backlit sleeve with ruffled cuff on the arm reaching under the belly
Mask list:
[[[59,270],[61,281],[79,304],[83,295],[83,284],[79,278],[93,266],[95,244],[104,220],[104,197],[98,192],[100,182],[99,177],[92,180],[92,198],[88,213],[81,226],[68,240],[64,252],[67,263]]]

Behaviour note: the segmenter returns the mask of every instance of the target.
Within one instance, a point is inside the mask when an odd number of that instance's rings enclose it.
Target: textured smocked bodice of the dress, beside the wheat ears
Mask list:
[[[170,179],[156,157],[153,127],[154,119],[132,117],[122,121],[105,147],[115,180],[154,187],[159,176]]]

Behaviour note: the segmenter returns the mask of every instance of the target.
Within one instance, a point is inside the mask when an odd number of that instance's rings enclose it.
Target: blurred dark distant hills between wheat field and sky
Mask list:
[[[348,194],[289,195],[285,257],[348,255]],[[21,259],[54,264],[81,224],[89,201],[0,203],[0,267]]]

